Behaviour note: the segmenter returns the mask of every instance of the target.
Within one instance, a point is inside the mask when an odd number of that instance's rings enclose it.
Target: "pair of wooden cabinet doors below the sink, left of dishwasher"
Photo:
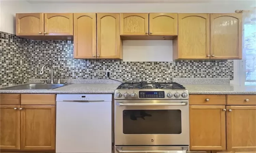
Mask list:
[[[0,105],[1,151],[55,152],[55,105]]]

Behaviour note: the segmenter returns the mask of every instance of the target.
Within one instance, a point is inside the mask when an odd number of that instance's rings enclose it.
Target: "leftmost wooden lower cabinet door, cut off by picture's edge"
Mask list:
[[[20,148],[20,105],[0,105],[0,149]]]

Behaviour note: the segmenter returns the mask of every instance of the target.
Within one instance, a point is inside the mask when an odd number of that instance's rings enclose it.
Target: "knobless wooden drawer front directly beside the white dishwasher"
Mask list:
[[[56,105],[55,94],[21,94],[22,105]]]

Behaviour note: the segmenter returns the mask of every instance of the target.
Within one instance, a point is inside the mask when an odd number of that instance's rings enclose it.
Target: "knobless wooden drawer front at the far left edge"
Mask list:
[[[0,94],[1,105],[20,105],[20,94]]]

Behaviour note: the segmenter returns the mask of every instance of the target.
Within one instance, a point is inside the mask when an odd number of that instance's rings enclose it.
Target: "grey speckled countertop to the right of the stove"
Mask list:
[[[182,84],[189,94],[256,94],[256,86],[233,84]]]

